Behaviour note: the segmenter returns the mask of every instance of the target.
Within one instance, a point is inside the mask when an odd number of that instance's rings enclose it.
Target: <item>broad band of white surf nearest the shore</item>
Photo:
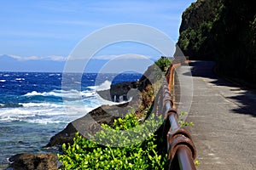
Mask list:
[[[53,105],[42,107],[26,105],[24,108],[4,109],[0,112],[0,122],[68,123],[93,109],[95,108],[84,105],[65,105],[59,108],[54,108]]]

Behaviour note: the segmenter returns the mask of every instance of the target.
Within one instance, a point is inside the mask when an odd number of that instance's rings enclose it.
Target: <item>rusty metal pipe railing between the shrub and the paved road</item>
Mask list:
[[[162,87],[162,113],[165,113],[166,125],[165,129],[169,129],[166,136],[167,151],[169,165],[168,169],[196,169],[195,168],[195,144],[192,141],[191,135],[183,127],[179,126],[178,114],[172,108],[173,102],[169,90],[169,84],[166,78],[163,81]]]

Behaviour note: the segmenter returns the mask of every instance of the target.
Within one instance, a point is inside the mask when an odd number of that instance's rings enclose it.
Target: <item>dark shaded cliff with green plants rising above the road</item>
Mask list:
[[[218,71],[256,82],[256,2],[198,0],[183,12],[177,45],[191,59],[214,59]]]

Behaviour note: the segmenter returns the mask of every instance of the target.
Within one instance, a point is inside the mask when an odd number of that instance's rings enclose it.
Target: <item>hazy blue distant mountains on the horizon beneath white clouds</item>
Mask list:
[[[29,72],[62,72],[66,66],[67,60],[62,58],[39,58],[29,57],[22,58],[20,56],[0,55],[0,71],[29,71]],[[84,60],[72,59],[68,60],[68,64],[72,65],[69,71],[80,72],[84,68],[84,72],[108,72],[119,73],[122,71],[137,71],[143,73],[148,65],[152,65],[152,60],[142,58],[121,58],[111,59],[109,57],[96,57],[90,59],[86,65]],[[65,70],[67,71],[67,70]]]

